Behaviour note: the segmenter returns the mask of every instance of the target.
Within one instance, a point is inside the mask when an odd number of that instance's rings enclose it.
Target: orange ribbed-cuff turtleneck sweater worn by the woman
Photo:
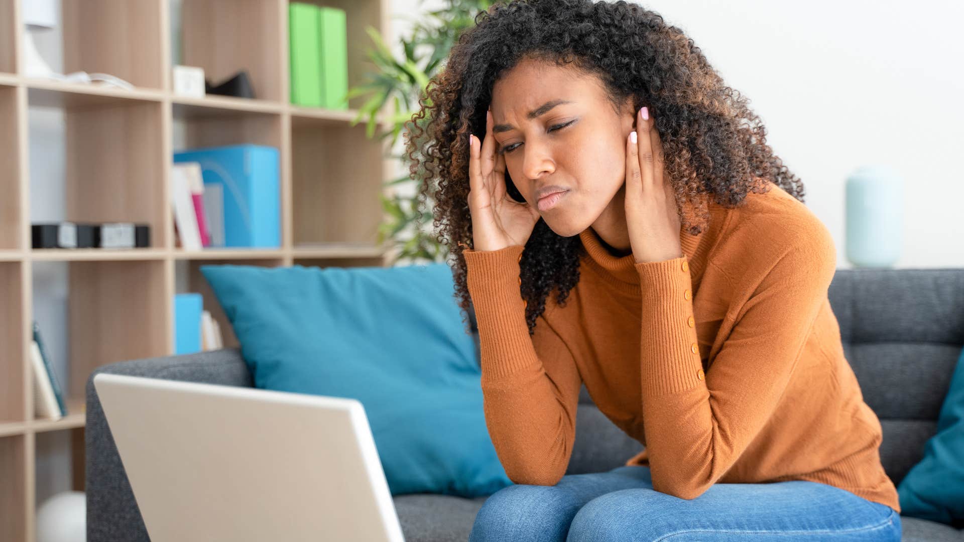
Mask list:
[[[827,288],[829,231],[776,184],[728,209],[710,202],[683,257],[613,256],[595,230],[565,306],[529,336],[523,247],[465,252],[489,434],[515,483],[555,485],[576,439],[579,386],[645,449],[656,491],[811,480],[899,512],[880,421],[844,358]]]

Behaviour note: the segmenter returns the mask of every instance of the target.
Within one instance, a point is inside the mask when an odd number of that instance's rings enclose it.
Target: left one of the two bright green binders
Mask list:
[[[322,105],[320,12],[313,4],[288,4],[291,103],[295,105]]]

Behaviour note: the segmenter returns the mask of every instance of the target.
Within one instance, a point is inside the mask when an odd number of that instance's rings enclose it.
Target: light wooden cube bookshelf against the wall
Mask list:
[[[124,360],[173,354],[173,296],[179,280],[230,325],[200,267],[385,264],[375,245],[378,194],[396,167],[383,142],[351,125],[356,111],[288,100],[288,0],[180,0],[181,64],[221,81],[248,70],[256,99],[203,98],[172,91],[175,0],[61,0],[63,72],[102,71],[133,91],[26,77],[19,0],[0,0],[0,540],[34,540],[37,455],[43,439],[67,432],[73,489],[84,489],[84,393],[91,371]],[[367,25],[388,34],[388,0],[319,0],[347,13],[348,82],[374,69]],[[360,107],[364,96],[349,101]],[[150,246],[131,250],[31,248],[28,113],[52,108],[65,127],[67,220],[150,225]],[[384,123],[382,127],[387,127]],[[175,147],[174,128],[183,145]],[[254,143],[281,156],[281,247],[205,249],[174,245],[167,179],[174,151]],[[69,414],[34,420],[29,344],[35,266],[67,268]],[[41,328],[42,332],[42,328]],[[40,446],[39,446],[40,441]]]

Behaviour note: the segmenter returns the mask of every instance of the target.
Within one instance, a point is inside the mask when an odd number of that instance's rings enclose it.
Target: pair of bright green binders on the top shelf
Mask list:
[[[348,30],[344,10],[288,4],[291,103],[348,109]]]

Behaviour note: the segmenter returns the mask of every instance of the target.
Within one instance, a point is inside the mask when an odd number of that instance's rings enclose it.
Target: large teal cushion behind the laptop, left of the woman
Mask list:
[[[448,265],[202,265],[254,386],[362,402],[392,495],[479,497],[512,483]],[[361,480],[360,480],[361,482]]]

